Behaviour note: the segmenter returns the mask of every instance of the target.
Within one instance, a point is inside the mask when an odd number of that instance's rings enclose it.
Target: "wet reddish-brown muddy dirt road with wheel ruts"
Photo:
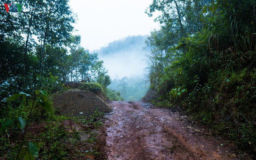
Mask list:
[[[143,102],[110,103],[108,159],[236,159],[222,140],[202,135],[185,116]],[[225,144],[225,143],[224,143]]]

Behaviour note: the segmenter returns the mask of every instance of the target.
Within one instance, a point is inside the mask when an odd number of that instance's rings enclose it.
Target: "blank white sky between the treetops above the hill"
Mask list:
[[[145,14],[153,0],[70,0],[81,46],[93,51],[120,38],[147,35],[160,25]]]

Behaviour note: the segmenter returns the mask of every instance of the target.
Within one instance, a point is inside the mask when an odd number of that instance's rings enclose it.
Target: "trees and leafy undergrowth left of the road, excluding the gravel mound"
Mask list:
[[[21,0],[22,10],[9,4],[9,12],[0,5],[0,155],[35,159],[41,147],[45,158],[62,158],[67,154],[60,142],[67,136],[66,117],[53,114],[57,110],[49,95],[63,90],[66,81],[97,82],[103,88],[111,83],[97,53],[81,47],[80,36],[71,34],[76,16],[68,2]],[[45,123],[48,130],[36,141],[26,141],[31,122]],[[11,149],[13,143],[17,148]]]

